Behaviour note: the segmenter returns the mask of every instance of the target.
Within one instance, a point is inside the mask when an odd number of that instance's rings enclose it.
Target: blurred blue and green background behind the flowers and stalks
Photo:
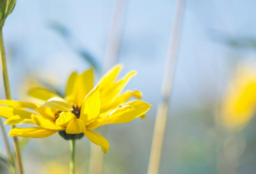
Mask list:
[[[256,62],[255,5],[253,0],[186,1],[159,173],[256,172],[256,119],[239,132],[219,124],[237,65]],[[114,6],[113,0],[18,0],[3,29],[13,99],[28,100],[28,89],[38,85],[63,93],[71,72],[92,65],[99,79]],[[124,5],[120,77],[137,70],[125,89],[140,90],[153,107],[145,120],[108,127],[104,174],[147,173],[174,8],[173,0]],[[0,83],[5,99],[2,76]],[[5,150],[1,134],[0,149]],[[58,134],[30,139],[22,155],[28,174],[68,173],[69,143]],[[89,160],[84,137],[77,141],[79,173],[87,173]],[[8,173],[3,163],[0,173]]]

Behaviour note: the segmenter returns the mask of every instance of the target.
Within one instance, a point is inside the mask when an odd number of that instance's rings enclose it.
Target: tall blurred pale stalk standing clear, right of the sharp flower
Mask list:
[[[148,164],[148,174],[157,174],[161,161],[161,152],[164,139],[164,130],[166,126],[166,118],[168,113],[168,104],[172,92],[173,74],[175,71],[175,61],[179,48],[179,34],[182,24],[182,16],[184,12],[185,0],[177,0],[175,8],[175,16],[172,25],[172,33],[170,36],[170,44],[168,49],[168,57],[164,72],[162,84],[162,100],[157,107],[156,123],[154,135],[152,139],[152,147],[150,152],[150,161]]]

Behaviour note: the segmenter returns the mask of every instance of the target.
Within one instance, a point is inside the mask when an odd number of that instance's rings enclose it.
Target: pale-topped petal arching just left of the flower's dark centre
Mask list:
[[[45,102],[45,104],[43,104],[40,107],[50,107],[52,109],[57,109],[58,111],[66,111],[66,112],[73,110],[73,107],[70,106],[68,102],[66,102],[64,99],[61,99],[60,97],[53,97],[47,100],[47,102]]]

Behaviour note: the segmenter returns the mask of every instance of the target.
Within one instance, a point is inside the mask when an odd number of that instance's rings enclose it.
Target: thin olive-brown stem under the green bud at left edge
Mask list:
[[[0,28],[0,54],[1,54],[2,72],[3,72],[3,79],[4,79],[4,90],[5,90],[6,99],[12,100],[9,77],[8,77],[8,70],[7,70],[7,63],[6,63],[6,56],[5,56],[5,51],[4,51],[3,28]],[[12,125],[12,129],[14,129],[14,128],[15,128],[15,125]],[[15,137],[13,137],[13,141],[14,141],[17,169],[20,174],[23,174],[24,172],[23,172],[23,166],[22,166],[22,159],[21,159],[21,155],[20,155],[19,139],[15,136]]]

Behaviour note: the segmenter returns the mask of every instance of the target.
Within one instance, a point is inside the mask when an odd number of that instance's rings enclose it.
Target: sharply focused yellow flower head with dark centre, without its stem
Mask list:
[[[108,141],[92,130],[106,124],[131,122],[140,116],[144,118],[151,107],[141,100],[127,102],[132,96],[140,98],[139,91],[126,91],[120,95],[125,84],[135,74],[130,72],[115,82],[120,68],[116,66],[111,69],[95,88],[92,70],[80,75],[72,73],[65,99],[44,89],[31,90],[31,97],[43,102],[46,100],[40,107],[30,102],[0,101],[0,104],[15,107],[0,107],[0,115],[8,118],[6,124],[32,123],[38,126],[12,129],[10,136],[45,138],[60,132],[65,139],[76,139],[85,134],[90,141],[102,146],[104,153],[108,152]],[[23,107],[33,109],[34,112],[24,111]]]

